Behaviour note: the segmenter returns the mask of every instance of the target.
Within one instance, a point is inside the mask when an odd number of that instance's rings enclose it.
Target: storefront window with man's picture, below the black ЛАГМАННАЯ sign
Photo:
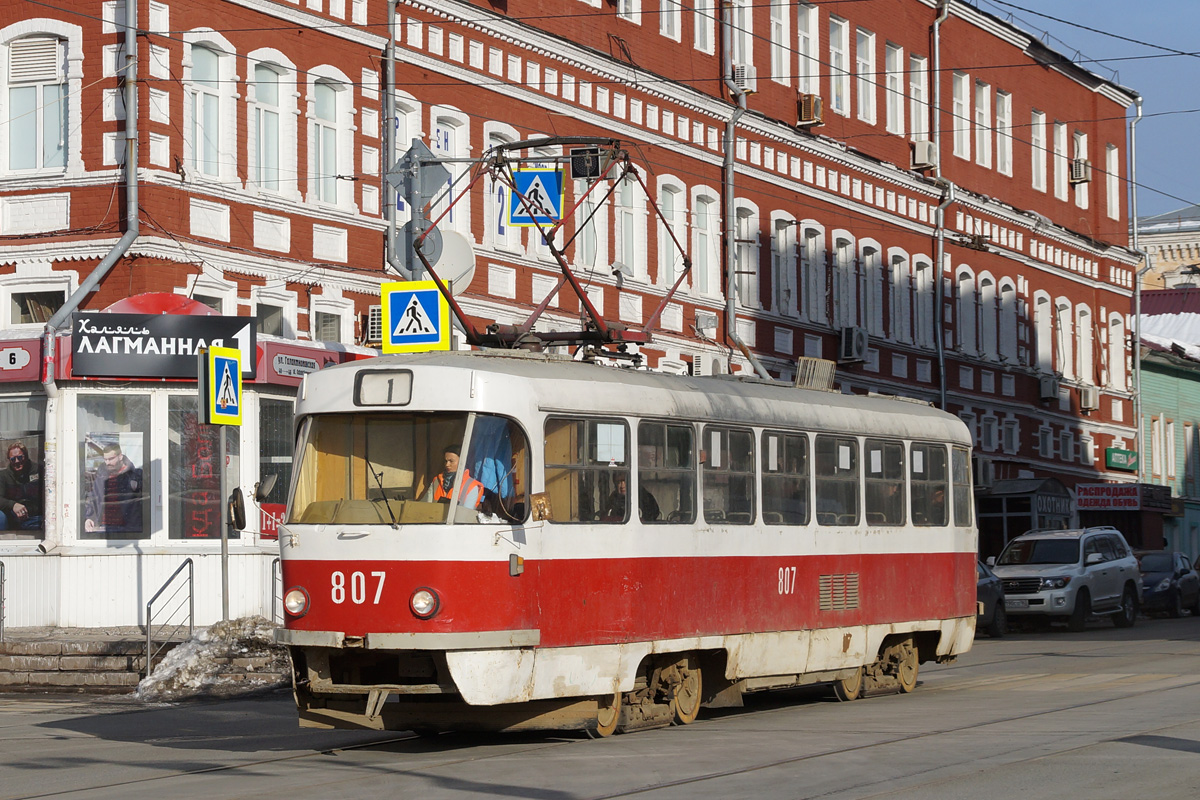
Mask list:
[[[149,539],[150,396],[80,395],[78,433],[79,537]]]

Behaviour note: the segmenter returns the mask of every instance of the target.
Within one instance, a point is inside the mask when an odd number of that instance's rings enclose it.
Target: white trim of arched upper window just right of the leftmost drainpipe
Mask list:
[[[238,176],[238,50],[221,34],[210,28],[199,28],[184,34],[184,168],[186,180],[194,184],[218,184],[224,188],[242,190]],[[196,143],[192,142],[192,103],[187,94],[192,86],[192,48],[206,47],[218,54],[217,97],[221,114],[221,132],[217,142],[217,174],[205,175],[193,168]]]

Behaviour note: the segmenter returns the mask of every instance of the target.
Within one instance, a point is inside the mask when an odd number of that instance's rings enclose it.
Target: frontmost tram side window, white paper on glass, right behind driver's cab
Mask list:
[[[546,420],[546,495],[554,522],[623,523],[629,426],[623,420]]]

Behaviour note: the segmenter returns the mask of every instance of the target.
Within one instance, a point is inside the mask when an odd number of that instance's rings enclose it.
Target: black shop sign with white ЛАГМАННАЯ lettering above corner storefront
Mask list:
[[[258,330],[253,317],[71,314],[71,374],[84,378],[191,378],[202,348],[241,350],[242,378],[253,379]]]

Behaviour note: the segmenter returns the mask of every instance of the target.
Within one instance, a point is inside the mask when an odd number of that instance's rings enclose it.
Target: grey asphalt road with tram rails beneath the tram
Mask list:
[[[0,798],[1153,798],[1200,794],[1200,619],[976,640],[908,696],[757,694],[688,727],[310,732],[288,694],[0,696]]]

